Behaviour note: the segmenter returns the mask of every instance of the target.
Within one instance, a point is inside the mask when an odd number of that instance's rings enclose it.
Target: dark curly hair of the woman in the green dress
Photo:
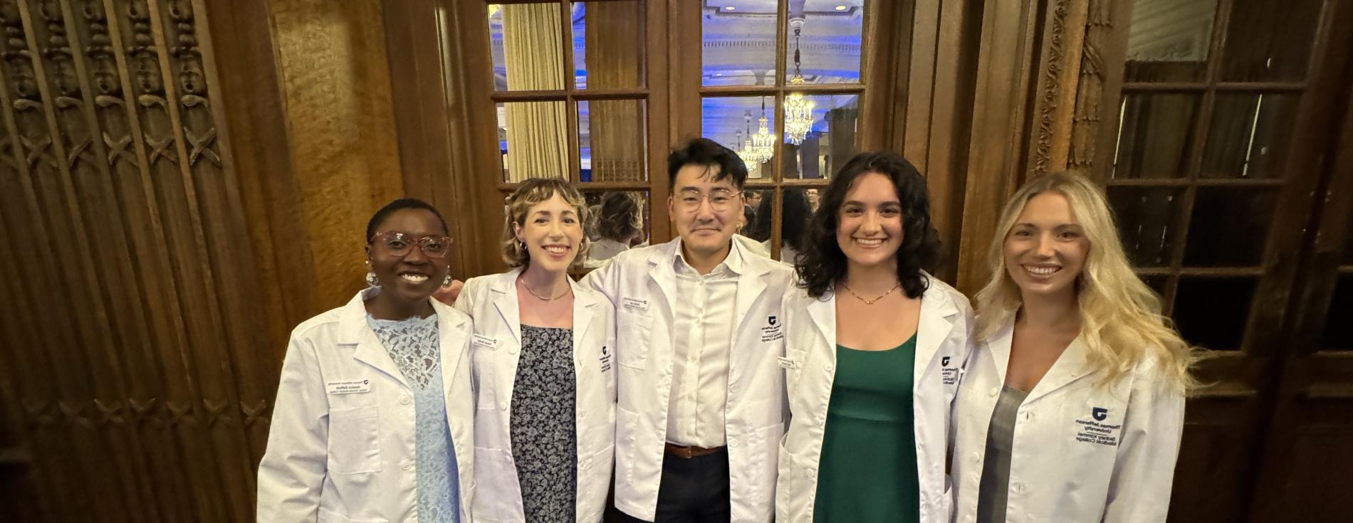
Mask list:
[[[925,178],[907,158],[892,153],[859,153],[842,166],[821,195],[817,212],[806,231],[806,246],[798,255],[798,287],[821,297],[846,278],[846,253],[836,243],[838,215],[846,193],[862,174],[879,173],[893,181],[902,204],[902,246],[897,249],[897,280],[908,297],[920,297],[930,287],[921,270],[932,270],[940,259],[939,232],[930,220],[930,191]]]

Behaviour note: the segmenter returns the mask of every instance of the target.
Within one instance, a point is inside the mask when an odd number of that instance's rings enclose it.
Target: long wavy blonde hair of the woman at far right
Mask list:
[[[1020,289],[1005,268],[1005,238],[1024,205],[1047,192],[1066,199],[1089,239],[1085,266],[1076,281],[1077,308],[1080,339],[1089,351],[1088,359],[1105,370],[1101,384],[1116,381],[1137,365],[1154,359],[1165,384],[1185,392],[1197,387],[1189,374],[1197,357],[1174,331],[1173,322],[1161,314],[1155,292],[1132,272],[1104,192],[1076,173],[1059,172],[1030,180],[1001,211],[988,251],[992,276],[976,296],[977,338],[990,338],[1011,323],[1022,307]]]

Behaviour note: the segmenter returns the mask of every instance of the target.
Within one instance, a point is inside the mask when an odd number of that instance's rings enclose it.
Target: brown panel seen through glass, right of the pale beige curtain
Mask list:
[[[587,4],[587,88],[644,85],[644,11],[639,1]],[[594,181],[644,180],[644,107],[639,100],[589,104]]]

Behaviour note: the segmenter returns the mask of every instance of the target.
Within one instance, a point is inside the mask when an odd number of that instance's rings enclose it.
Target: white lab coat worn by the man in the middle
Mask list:
[[[672,385],[675,257],[681,239],[630,249],[583,278],[616,304],[616,508],[653,520],[667,441]],[[736,323],[729,347],[728,439],[731,516],[769,522],[775,500],[775,457],[785,431],[785,376],[777,366],[785,335],[781,305],[789,265],[752,255],[741,242]]]

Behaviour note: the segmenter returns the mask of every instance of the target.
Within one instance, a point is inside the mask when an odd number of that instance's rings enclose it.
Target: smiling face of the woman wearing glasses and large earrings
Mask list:
[[[442,238],[446,230],[432,211],[399,209],[376,224],[377,239],[367,245],[367,262],[380,280],[382,296],[406,304],[426,301],[451,270],[446,259],[429,257],[417,241],[407,253],[392,253],[388,243],[379,239],[388,232],[402,232],[406,238],[417,239]]]

